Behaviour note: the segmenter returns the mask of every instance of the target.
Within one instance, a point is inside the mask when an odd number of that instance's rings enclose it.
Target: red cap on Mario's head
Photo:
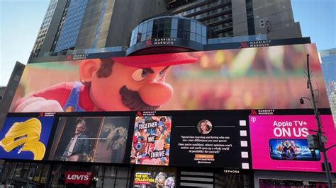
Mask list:
[[[138,68],[191,64],[197,61],[196,58],[191,57],[186,53],[113,57],[112,59],[125,66],[135,66]]]

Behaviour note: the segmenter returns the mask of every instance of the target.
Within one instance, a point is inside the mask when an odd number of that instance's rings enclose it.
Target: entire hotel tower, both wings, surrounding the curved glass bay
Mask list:
[[[183,16],[206,25],[211,30],[209,33],[215,33],[208,38],[301,37],[300,25],[293,20],[290,0],[52,0],[30,60],[43,57],[45,52],[130,47],[132,31],[137,25],[167,15]],[[246,41],[245,38],[242,41]]]

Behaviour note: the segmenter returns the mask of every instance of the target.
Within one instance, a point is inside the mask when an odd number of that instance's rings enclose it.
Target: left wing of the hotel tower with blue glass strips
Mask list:
[[[164,0],[51,0],[30,59],[45,52],[127,46],[135,25],[168,6]]]

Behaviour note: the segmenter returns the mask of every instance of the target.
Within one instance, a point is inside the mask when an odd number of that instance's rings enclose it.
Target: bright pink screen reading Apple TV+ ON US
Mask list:
[[[323,154],[309,149],[307,136],[318,129],[314,115],[250,115],[252,168],[255,170],[288,170],[322,172]],[[336,129],[331,115],[320,115],[325,148],[336,143]],[[327,158],[336,172],[336,152]]]

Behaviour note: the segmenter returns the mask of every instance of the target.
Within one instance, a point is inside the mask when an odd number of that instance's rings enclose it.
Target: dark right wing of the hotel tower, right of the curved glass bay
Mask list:
[[[302,37],[291,1],[172,1],[172,13],[198,20],[217,37],[266,34],[268,39]]]

